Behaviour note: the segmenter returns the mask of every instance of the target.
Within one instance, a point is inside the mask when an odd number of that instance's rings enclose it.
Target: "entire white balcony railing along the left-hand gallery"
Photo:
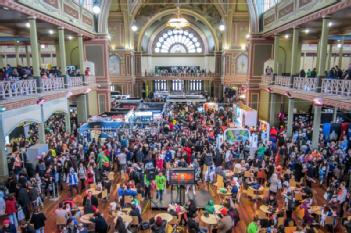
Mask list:
[[[28,96],[40,92],[60,91],[67,88],[95,84],[94,76],[57,77],[27,80],[0,81],[0,99],[16,96]]]

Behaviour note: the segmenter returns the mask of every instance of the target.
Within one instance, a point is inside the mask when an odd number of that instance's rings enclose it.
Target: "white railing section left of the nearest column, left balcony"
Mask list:
[[[37,82],[34,79],[0,82],[0,98],[33,95],[37,93]]]

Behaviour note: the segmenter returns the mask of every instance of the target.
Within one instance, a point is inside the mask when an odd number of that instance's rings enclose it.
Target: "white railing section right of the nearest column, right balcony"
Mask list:
[[[322,93],[331,95],[351,96],[351,80],[322,80]]]

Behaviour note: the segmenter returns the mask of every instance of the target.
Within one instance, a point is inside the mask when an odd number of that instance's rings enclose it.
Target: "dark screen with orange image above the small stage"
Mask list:
[[[170,185],[195,184],[195,170],[192,168],[175,168],[169,170]]]

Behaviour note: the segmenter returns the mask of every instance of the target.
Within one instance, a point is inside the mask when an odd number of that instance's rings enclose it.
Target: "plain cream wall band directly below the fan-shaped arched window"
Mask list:
[[[168,56],[144,56],[141,57],[142,74],[147,72],[153,73],[155,66],[200,66],[207,71],[215,71],[214,56],[184,56],[184,57],[168,57]]]

